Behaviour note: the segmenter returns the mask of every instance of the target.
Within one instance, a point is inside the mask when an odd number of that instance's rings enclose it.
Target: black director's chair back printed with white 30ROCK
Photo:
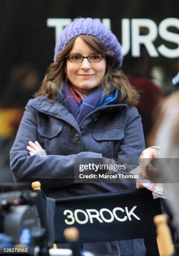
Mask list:
[[[66,243],[63,232],[69,227],[78,228],[81,243],[156,236],[153,218],[161,214],[160,200],[147,189],[55,200],[45,197],[40,182],[32,187],[38,192],[40,224],[52,243]]]

